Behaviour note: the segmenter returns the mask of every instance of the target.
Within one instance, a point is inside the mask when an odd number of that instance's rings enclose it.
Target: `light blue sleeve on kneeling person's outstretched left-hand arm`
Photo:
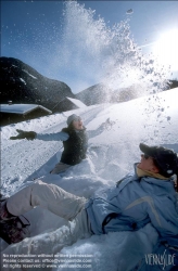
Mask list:
[[[69,138],[66,132],[56,132],[56,133],[37,133],[36,139],[43,141],[66,141]]]

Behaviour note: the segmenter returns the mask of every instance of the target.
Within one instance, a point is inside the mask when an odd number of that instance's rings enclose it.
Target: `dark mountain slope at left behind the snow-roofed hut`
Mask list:
[[[39,104],[52,112],[61,112],[60,102],[66,96],[75,98],[66,83],[49,79],[13,57],[0,57],[0,74],[1,103],[11,100],[13,103]]]

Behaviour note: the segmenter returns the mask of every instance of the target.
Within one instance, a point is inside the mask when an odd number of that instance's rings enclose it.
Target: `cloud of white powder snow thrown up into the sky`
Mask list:
[[[90,81],[103,83],[111,92],[132,88],[135,96],[162,91],[166,70],[151,56],[143,56],[131,38],[129,20],[109,26],[96,11],[77,1],[65,3],[63,68],[75,70],[78,91]]]

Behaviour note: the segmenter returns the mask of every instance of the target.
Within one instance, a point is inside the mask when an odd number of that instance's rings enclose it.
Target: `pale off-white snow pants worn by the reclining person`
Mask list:
[[[8,198],[7,208],[14,216],[23,215],[35,206],[40,206],[66,220],[72,220],[68,221],[67,227],[64,225],[48,233],[48,243],[39,238],[38,243],[40,244],[30,245],[30,249],[26,240],[16,244],[18,253],[22,244],[21,247],[28,253],[30,250],[30,254],[46,253],[50,247],[51,251],[53,250],[55,254],[79,238],[89,237],[91,235],[90,223],[84,209],[86,201],[86,198],[73,195],[55,184],[47,184],[40,180]]]

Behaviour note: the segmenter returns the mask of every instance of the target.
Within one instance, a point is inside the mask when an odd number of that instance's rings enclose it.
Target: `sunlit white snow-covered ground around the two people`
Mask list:
[[[1,127],[1,193],[11,196],[33,179],[41,179],[89,198],[96,190],[115,184],[132,170],[134,163],[140,160],[140,142],[161,144],[178,152],[177,101],[178,88],[120,104],[87,106]],[[62,142],[9,139],[16,134],[16,129],[58,132],[66,126],[66,118],[73,113],[82,117],[88,130],[96,130],[101,124],[104,124],[104,130],[89,139],[88,157],[64,175],[49,175],[60,160]],[[155,230],[148,224],[137,232],[92,235],[60,251],[58,238],[65,236],[65,221],[39,207],[27,212],[26,217],[31,223],[31,237],[26,238],[24,247],[22,242],[11,246],[2,242],[2,251],[14,255],[58,253],[65,259],[69,255],[92,255],[89,258],[92,259],[91,268],[74,267],[73,270],[132,270],[143,254],[151,253],[157,237]],[[72,269],[54,264],[42,270]]]

